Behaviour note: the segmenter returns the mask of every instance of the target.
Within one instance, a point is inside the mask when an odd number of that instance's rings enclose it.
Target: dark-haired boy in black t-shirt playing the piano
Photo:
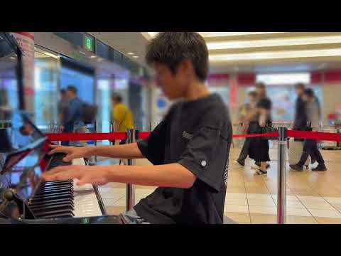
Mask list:
[[[205,86],[208,50],[198,33],[163,32],[148,45],[146,61],[170,100],[177,100],[147,139],[117,146],[51,146],[64,161],[89,156],[146,158],[153,166],[62,166],[46,181],[77,178],[158,186],[134,210],[131,223],[222,223],[232,125],[220,96]]]

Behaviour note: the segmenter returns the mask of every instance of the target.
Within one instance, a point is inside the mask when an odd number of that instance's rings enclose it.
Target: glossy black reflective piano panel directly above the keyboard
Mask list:
[[[14,188],[27,201],[41,181],[44,170],[40,161],[45,156],[47,137],[23,112],[12,112],[11,127],[5,130],[0,143],[6,140],[9,147],[0,153],[0,159],[5,159],[1,160],[0,191]]]

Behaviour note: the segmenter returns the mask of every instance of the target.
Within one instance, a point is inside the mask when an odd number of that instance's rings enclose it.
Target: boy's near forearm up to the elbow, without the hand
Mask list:
[[[143,186],[190,188],[196,179],[192,172],[180,164],[158,166],[101,166],[107,181],[133,183]]]

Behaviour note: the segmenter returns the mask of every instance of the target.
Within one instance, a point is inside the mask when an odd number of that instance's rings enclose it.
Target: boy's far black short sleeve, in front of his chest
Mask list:
[[[139,140],[137,146],[152,164],[163,164],[166,145],[166,122],[158,124],[146,139]]]

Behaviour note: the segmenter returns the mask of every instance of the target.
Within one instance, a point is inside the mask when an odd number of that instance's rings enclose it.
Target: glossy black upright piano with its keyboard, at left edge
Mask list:
[[[55,166],[85,160],[47,155],[50,142],[23,113],[22,56],[11,33],[0,32],[0,223],[121,223],[105,215],[97,186],[41,178]]]

